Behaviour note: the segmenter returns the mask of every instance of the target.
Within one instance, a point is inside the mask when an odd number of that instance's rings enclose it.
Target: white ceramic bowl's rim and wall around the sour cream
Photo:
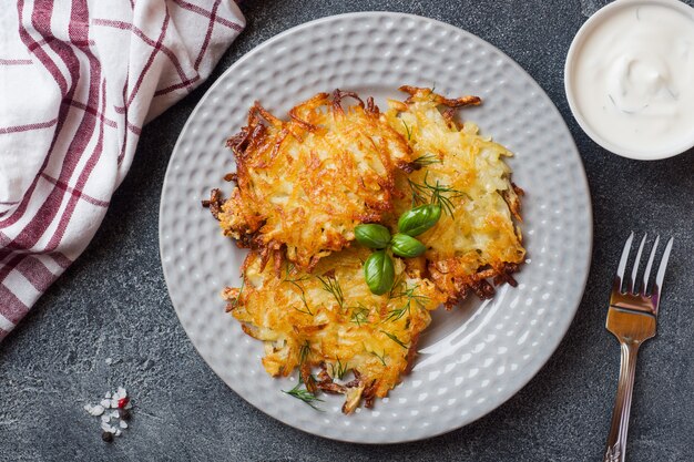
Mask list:
[[[571,42],[569,53],[567,54],[567,62],[564,64],[564,90],[567,92],[567,100],[569,100],[569,106],[571,107],[573,116],[581,129],[583,129],[583,131],[595,143],[623,157],[635,158],[639,161],[657,161],[682,154],[683,152],[694,147],[694,131],[684,140],[678,140],[676,142],[666,140],[666,142],[664,142],[663,145],[656,150],[649,150],[647,152],[636,151],[627,146],[615,144],[610,140],[605,140],[604,136],[592,127],[591,122],[594,121],[588,120],[576,101],[575,68],[578,58],[583,51],[583,45],[585,44],[586,39],[598,28],[603,27],[605,21],[609,21],[612,16],[625,8],[633,8],[634,6],[662,6],[674,9],[675,11],[682,12],[688,17],[694,16],[692,7],[680,0],[616,0],[606,4],[590,17],[588,21],[585,21]]]

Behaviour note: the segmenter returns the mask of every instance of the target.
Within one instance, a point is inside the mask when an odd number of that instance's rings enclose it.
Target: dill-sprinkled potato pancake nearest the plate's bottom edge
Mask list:
[[[392,290],[371,294],[363,269],[369,253],[355,247],[333,254],[312,274],[285,260],[280,277],[274,264],[263,269],[262,257],[251,253],[243,287],[223,291],[243,330],[265,342],[265,370],[289,376],[299,368],[309,392],[345,394],[345,413],[363,400],[371,407],[399,383],[429,325],[429,310],[443,301],[431,281],[406,271],[400,259]]]

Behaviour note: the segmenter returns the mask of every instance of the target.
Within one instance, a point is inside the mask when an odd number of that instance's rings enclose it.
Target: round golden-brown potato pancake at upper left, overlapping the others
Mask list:
[[[344,107],[346,96],[357,104]],[[256,102],[227,145],[237,187],[213,208],[225,235],[264,263],[286,256],[303,270],[346,247],[355,226],[391,212],[395,172],[411,170],[409,145],[372,100],[339,90],[295,106],[286,122]]]

